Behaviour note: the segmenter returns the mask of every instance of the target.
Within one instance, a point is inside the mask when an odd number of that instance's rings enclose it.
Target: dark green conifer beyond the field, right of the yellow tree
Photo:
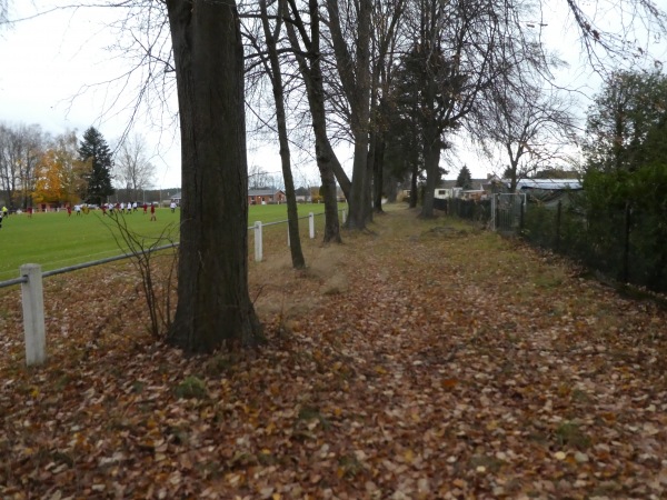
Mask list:
[[[89,173],[86,176],[88,182],[86,202],[103,203],[107,201],[107,197],[113,194],[111,187],[113,160],[107,141],[94,127],[90,127],[83,132],[83,141],[79,147],[79,159],[90,163]]]

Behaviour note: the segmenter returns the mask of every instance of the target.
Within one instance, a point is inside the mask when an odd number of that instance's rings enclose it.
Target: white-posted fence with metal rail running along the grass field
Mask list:
[[[308,217],[301,217],[299,219],[308,219],[308,228],[310,238],[315,238],[315,213],[310,212]],[[321,213],[318,213],[321,216]],[[346,220],[346,211],[342,210],[342,221]],[[269,222],[262,224],[261,222],[255,222],[255,226],[248,228],[248,230],[255,230],[255,260],[261,261],[263,249],[262,249],[262,228],[265,226],[276,226],[286,223],[287,220],[277,222]],[[287,244],[289,246],[289,230],[287,233]],[[178,243],[167,244],[158,247],[151,251],[166,250],[173,248]],[[68,268],[54,269],[52,271],[42,272],[41,266],[37,263],[27,263],[21,266],[19,272],[20,277],[0,281],[0,288],[12,287],[16,284],[21,286],[21,302],[23,307],[23,334],[26,341],[26,364],[28,367],[34,364],[42,364],[47,360],[47,339],[46,339],[46,323],[44,323],[44,299],[43,299],[43,284],[44,278],[54,274],[62,274],[66,272],[77,271],[79,269],[90,268],[93,266],[100,266],[103,263],[113,262],[117,260],[129,259],[132,253],[126,253],[122,256],[110,257],[108,259],[96,260],[91,262],[83,262]]]

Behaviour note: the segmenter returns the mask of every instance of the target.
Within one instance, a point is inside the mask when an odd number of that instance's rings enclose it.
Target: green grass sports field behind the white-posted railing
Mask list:
[[[323,206],[301,204],[299,217],[309,212],[321,213]],[[148,239],[158,238],[163,232],[178,240],[180,212],[157,209],[157,221],[151,222],[142,210],[126,216],[128,227]],[[255,221],[262,223],[287,219],[286,204],[251,206],[248,226]],[[2,221],[0,230],[0,281],[17,278],[19,267],[24,263],[39,263],[48,271],[80,262],[88,262],[121,253],[109,219],[100,210],[88,214],[68,217],[66,211],[26,213],[10,216]],[[167,241],[166,241],[167,243]]]

